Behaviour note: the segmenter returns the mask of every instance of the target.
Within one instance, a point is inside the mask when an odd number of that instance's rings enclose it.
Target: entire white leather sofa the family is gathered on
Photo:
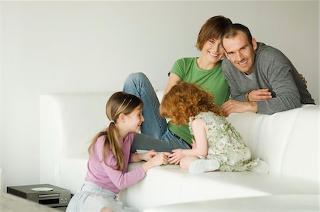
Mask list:
[[[84,181],[87,147],[109,124],[105,103],[113,92],[40,97],[40,183],[70,189]],[[163,92],[158,92],[161,98]],[[319,211],[319,105],[228,120],[270,166],[252,171],[188,174],[179,166],[151,169],[119,198],[139,211]],[[130,169],[138,164],[131,164]]]

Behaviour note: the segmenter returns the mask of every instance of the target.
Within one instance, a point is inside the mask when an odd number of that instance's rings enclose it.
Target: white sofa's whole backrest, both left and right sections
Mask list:
[[[113,92],[74,92],[40,97],[40,180],[58,185],[59,159],[87,154],[97,132],[107,127],[105,104]],[[159,100],[163,91],[157,92]],[[232,114],[252,158],[271,174],[319,180],[319,105],[274,115]]]

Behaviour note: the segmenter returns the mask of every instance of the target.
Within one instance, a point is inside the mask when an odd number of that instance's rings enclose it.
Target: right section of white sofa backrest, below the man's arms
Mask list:
[[[270,174],[319,181],[319,105],[304,105],[273,115],[232,114],[235,126],[252,151],[267,161]]]

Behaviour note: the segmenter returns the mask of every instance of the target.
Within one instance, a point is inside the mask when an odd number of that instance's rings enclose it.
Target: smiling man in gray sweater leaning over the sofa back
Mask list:
[[[233,98],[222,105],[225,115],[273,114],[314,104],[290,60],[276,48],[257,43],[246,26],[233,23],[221,40],[226,55],[222,69]]]

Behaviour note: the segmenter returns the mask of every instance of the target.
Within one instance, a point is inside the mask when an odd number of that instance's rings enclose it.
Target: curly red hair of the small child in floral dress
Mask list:
[[[194,83],[179,81],[164,95],[160,104],[161,117],[171,118],[172,124],[188,124],[189,117],[211,111],[224,116],[213,102],[214,95]]]

